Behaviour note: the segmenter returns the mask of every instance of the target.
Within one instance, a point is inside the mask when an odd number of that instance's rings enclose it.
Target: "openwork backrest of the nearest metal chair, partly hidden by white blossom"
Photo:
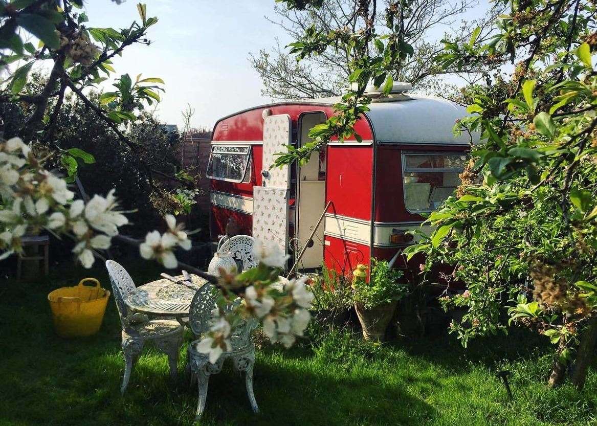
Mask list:
[[[210,330],[211,322],[213,320],[213,314],[211,311],[217,307],[216,301],[219,297],[217,289],[209,284],[205,283],[193,297],[190,303],[189,311],[189,323],[193,334],[200,337],[205,332]],[[228,304],[225,308],[226,311],[232,310],[241,300],[237,299],[234,302]],[[249,344],[250,333],[256,327],[257,323],[254,320],[243,321],[241,325],[236,327],[232,333],[232,348],[233,350]]]

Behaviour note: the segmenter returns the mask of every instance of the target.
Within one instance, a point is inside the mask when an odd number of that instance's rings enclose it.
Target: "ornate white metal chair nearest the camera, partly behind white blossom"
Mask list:
[[[230,345],[232,350],[223,352],[216,363],[210,363],[208,354],[200,353],[197,345],[201,342],[201,337],[209,331],[211,320],[213,320],[212,310],[216,307],[218,293],[213,285],[206,284],[197,291],[190,305],[190,328],[197,340],[189,344],[188,360],[191,380],[197,380],[199,388],[199,400],[197,402],[197,418],[201,417],[205,409],[205,400],[207,399],[207,385],[210,375],[221,371],[224,360],[231,358],[235,371],[245,372],[245,385],[247,386],[247,396],[254,412],[259,412],[255,394],[253,393],[253,365],[255,363],[255,347],[251,341],[251,330],[255,327],[255,322],[250,320],[244,322],[235,329],[230,336]],[[230,304],[227,309],[232,309]]]

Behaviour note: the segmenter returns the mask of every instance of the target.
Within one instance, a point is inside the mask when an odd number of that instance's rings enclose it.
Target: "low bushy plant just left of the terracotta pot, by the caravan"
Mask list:
[[[321,274],[310,282],[313,291],[313,317],[322,325],[343,327],[349,320],[352,292],[349,280],[322,265]]]

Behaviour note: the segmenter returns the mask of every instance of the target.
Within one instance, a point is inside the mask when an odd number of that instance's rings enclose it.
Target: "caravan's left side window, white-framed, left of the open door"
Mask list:
[[[250,146],[214,145],[206,175],[211,179],[248,182],[251,180],[250,160]]]

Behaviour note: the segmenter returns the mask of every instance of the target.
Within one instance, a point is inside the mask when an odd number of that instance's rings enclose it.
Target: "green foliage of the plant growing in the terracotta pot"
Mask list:
[[[370,282],[353,285],[353,300],[366,309],[401,300],[409,293],[407,284],[400,283],[402,271],[389,267],[385,260],[371,258]]]

